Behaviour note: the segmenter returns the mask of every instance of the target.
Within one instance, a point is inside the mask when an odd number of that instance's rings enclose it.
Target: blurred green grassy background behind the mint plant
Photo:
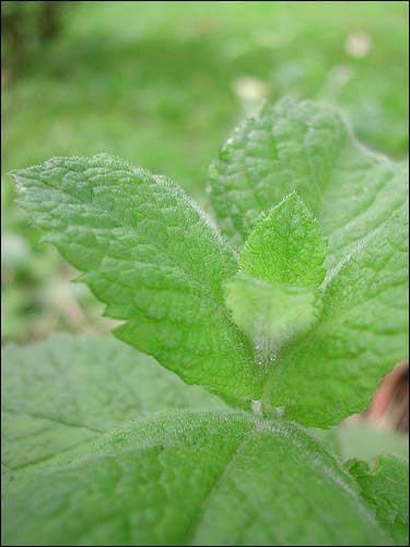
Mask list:
[[[1,4],[3,342],[109,328],[13,203],[13,168],[109,152],[204,205],[220,144],[284,94],[336,105],[370,147],[408,154],[407,2],[40,4]]]

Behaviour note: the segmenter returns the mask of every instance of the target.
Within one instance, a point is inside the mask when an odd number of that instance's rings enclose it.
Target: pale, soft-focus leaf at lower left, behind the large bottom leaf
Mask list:
[[[12,474],[72,457],[125,420],[222,400],[119,340],[55,335],[1,353],[2,464]]]

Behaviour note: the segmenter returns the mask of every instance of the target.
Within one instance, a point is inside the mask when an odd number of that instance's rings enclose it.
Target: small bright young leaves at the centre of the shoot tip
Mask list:
[[[320,226],[295,193],[262,213],[246,241],[239,274],[226,283],[226,305],[266,372],[281,346],[317,317],[325,256]]]

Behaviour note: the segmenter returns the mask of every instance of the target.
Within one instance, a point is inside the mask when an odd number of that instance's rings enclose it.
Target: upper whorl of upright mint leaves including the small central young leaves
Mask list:
[[[125,322],[116,336],[188,384],[329,427],[406,357],[407,168],[330,109],[282,101],[236,129],[210,171],[223,235],[174,183],[112,156],[15,179]]]

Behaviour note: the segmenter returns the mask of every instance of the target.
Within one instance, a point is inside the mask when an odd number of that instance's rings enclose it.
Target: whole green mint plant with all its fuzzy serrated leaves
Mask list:
[[[407,173],[288,100],[212,164],[220,229],[117,158],[15,172],[138,351],[4,350],[5,544],[407,544],[407,459],[344,462],[306,429],[364,409],[407,354]]]

